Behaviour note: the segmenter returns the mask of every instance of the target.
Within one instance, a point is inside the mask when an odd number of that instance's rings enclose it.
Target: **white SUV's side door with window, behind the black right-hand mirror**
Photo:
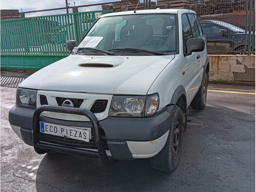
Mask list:
[[[203,38],[203,35],[200,34],[194,14],[182,14],[181,24],[183,50],[185,52],[188,39]],[[184,82],[187,92],[187,103],[189,104],[202,83],[204,54],[202,52],[193,52],[191,55],[184,56],[181,53],[181,57],[185,63],[185,74],[181,76],[181,80]]]

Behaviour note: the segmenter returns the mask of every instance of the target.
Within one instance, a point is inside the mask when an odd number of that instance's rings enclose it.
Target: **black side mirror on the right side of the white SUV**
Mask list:
[[[201,38],[188,39],[184,56],[191,55],[192,52],[204,51],[204,46],[205,46],[204,39],[201,39]]]

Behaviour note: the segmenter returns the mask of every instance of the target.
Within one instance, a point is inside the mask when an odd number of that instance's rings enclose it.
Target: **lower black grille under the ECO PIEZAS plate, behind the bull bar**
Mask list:
[[[104,144],[105,150],[109,150],[107,140],[106,140],[106,135],[102,129],[100,129],[100,134],[101,134],[101,139]],[[66,147],[72,147],[72,148],[97,149],[96,143],[94,140],[93,131],[92,131],[92,139],[89,140],[89,143],[81,140],[71,139],[71,138],[67,138],[64,140],[64,137],[44,134],[41,132],[39,132],[39,140],[44,142],[49,142],[52,144],[66,146]]]

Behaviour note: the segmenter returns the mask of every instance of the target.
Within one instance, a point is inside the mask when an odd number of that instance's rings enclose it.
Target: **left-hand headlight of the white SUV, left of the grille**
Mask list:
[[[16,105],[36,108],[36,90],[31,89],[17,89]]]

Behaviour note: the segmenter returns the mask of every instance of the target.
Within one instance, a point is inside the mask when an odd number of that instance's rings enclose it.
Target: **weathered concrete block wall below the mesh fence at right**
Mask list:
[[[208,55],[209,81],[255,83],[255,55]]]

